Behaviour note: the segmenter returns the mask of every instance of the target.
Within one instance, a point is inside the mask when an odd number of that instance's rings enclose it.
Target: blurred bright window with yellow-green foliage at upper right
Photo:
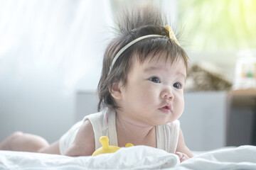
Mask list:
[[[192,50],[233,51],[256,47],[255,0],[179,0],[178,26]]]

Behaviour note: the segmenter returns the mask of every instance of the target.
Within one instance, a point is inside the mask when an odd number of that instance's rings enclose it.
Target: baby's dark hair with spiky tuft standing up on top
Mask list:
[[[127,84],[127,75],[132,66],[133,56],[137,56],[139,62],[144,62],[149,56],[153,58],[166,55],[166,60],[171,60],[171,63],[181,58],[187,68],[188,56],[182,47],[169,38],[169,31],[164,28],[167,23],[163,13],[161,8],[146,4],[133,8],[132,11],[126,9],[122,11],[121,15],[118,15],[119,18],[116,21],[119,33],[105,50],[102,74],[97,86],[97,93],[100,98],[98,111],[105,107],[119,108],[114,103],[110,89],[114,83],[122,82],[123,86]],[[163,37],[146,38],[131,45],[119,55],[110,69],[117,52],[129,42],[144,35],[163,35]]]

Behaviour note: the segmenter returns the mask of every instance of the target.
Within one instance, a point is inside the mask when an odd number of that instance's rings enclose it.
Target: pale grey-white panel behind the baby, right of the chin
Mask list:
[[[228,92],[185,92],[184,100],[179,120],[188,148],[206,151],[225,147]]]

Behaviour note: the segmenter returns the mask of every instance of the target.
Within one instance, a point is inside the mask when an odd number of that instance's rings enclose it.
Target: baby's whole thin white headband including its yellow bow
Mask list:
[[[166,30],[169,31],[169,38],[171,38],[171,40],[174,40],[174,42],[179,45],[178,43],[178,40],[176,38],[176,36],[174,35],[174,31],[171,29],[170,26],[166,25],[164,28],[166,28]],[[127,48],[129,48],[130,46],[134,45],[136,42],[140,41],[140,40],[144,40],[146,38],[157,38],[157,37],[165,37],[164,35],[155,35],[155,34],[151,34],[151,35],[144,35],[142,37],[139,37],[135,40],[132,40],[131,42],[129,42],[127,45],[124,45],[124,47],[122,47],[121,50],[119,50],[119,52],[117,52],[117,55],[114,56],[114,59],[112,61],[112,64],[110,66],[110,71],[112,69],[112,67],[114,66],[114,63],[117,61],[118,57],[120,55],[122,55],[122,53],[127,50]],[[181,45],[179,45],[181,46]],[[187,60],[189,60],[189,58],[187,57]],[[110,74],[110,71],[109,71],[109,74]]]

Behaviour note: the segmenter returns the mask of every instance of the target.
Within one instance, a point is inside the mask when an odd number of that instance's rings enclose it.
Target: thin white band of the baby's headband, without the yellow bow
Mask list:
[[[121,50],[119,50],[119,52],[117,52],[117,55],[114,56],[114,59],[112,61],[112,64],[110,66],[110,71],[112,69],[112,67],[114,66],[114,63],[117,61],[118,57],[125,51],[127,50],[127,48],[129,48],[130,46],[134,45],[136,42],[140,41],[140,40],[144,40],[146,38],[156,38],[156,37],[164,37],[164,35],[155,35],[155,34],[152,34],[152,35],[145,35],[145,36],[142,36],[142,37],[139,37],[135,40],[132,40],[131,42],[129,42],[127,45],[125,45],[124,47],[122,47]],[[109,74],[110,74],[110,71],[109,71]]]

